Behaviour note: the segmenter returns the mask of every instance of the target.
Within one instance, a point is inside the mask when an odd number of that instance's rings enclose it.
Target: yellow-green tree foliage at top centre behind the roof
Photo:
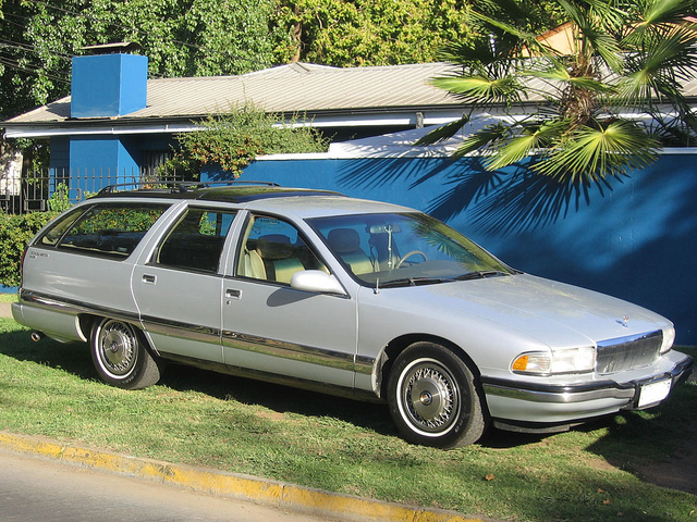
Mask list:
[[[472,37],[466,0],[283,0],[277,24],[290,37],[281,62],[335,66],[435,61],[447,41]]]

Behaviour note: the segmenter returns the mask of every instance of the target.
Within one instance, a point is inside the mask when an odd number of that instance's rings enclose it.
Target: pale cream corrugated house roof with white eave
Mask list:
[[[198,128],[208,115],[244,104],[289,120],[299,116],[295,124],[318,128],[439,125],[461,117],[463,111],[480,112],[430,84],[433,77],[456,73],[457,67],[448,63],[345,69],[294,63],[240,76],[149,79],[147,105],[123,116],[72,119],[69,96],[0,126],[10,138],[173,134]],[[543,90],[543,85],[531,87]],[[697,80],[683,90],[694,101]],[[538,95],[517,111],[538,112],[542,103]]]

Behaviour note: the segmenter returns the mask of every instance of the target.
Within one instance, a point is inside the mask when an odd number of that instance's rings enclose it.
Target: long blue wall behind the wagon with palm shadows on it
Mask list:
[[[662,156],[612,189],[589,191],[567,214],[526,232],[491,232],[481,206],[443,221],[525,272],[591,288],[671,319],[677,341],[697,344],[697,176],[690,154]],[[243,179],[329,188],[432,212],[456,189],[474,160],[272,160],[249,165]],[[430,175],[421,184],[414,182]],[[494,195],[496,196],[496,195]],[[467,197],[463,192],[462,197]],[[443,215],[453,209],[440,211]]]

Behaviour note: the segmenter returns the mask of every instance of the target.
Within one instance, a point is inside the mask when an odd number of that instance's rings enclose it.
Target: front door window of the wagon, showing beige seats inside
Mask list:
[[[329,272],[295,226],[277,217],[253,216],[240,249],[237,275],[289,285],[301,270]]]

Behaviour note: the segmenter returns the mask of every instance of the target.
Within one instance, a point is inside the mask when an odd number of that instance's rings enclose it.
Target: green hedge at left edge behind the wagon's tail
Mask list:
[[[0,284],[21,284],[22,253],[34,235],[58,212],[30,212],[8,215],[0,212]]]

